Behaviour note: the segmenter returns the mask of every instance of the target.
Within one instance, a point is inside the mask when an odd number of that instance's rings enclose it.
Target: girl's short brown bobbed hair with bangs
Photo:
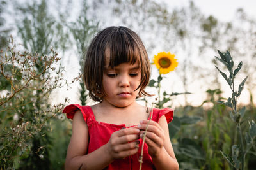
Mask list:
[[[106,49],[110,53],[109,63],[106,63]],[[150,80],[150,62],[140,37],[127,27],[107,27],[92,39],[84,61],[84,83],[91,99],[102,101],[106,96],[102,88],[104,66],[114,68],[125,62],[138,62],[141,69],[139,96],[152,96],[144,90]]]

